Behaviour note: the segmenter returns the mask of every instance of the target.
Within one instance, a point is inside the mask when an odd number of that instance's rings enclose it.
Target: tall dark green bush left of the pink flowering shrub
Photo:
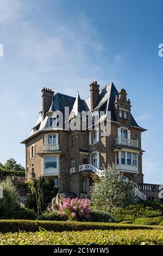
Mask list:
[[[46,210],[49,202],[51,202],[53,197],[57,196],[57,193],[58,188],[54,187],[53,177],[41,176],[33,181],[26,207],[40,214]]]

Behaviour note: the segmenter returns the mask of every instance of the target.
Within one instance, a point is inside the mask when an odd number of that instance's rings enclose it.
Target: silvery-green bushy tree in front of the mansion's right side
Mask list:
[[[134,182],[123,180],[115,165],[103,168],[105,177],[101,178],[92,192],[91,203],[97,209],[112,208],[116,206],[126,206],[134,202]]]

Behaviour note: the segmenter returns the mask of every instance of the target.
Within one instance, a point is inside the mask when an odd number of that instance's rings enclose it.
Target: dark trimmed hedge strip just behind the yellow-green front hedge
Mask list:
[[[82,231],[82,230],[116,230],[116,229],[160,229],[162,226],[135,225],[121,223],[100,223],[100,222],[70,222],[70,221],[28,221],[28,220],[0,220],[0,232],[17,231],[39,231],[40,229],[50,231]]]

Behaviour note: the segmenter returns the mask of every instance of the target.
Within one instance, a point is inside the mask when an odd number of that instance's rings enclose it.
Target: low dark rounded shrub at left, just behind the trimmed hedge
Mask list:
[[[12,211],[11,218],[14,220],[36,220],[38,216],[35,214],[35,211],[22,208],[18,211]]]

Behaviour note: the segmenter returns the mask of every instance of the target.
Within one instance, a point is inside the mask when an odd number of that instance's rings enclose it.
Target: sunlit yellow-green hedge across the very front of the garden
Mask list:
[[[1,234],[0,245],[163,245],[163,230],[7,233]]]

